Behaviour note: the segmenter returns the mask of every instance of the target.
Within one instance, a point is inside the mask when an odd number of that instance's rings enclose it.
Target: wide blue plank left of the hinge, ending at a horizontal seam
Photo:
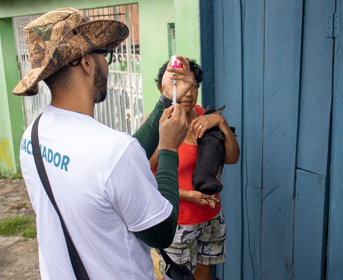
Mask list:
[[[333,0],[306,0],[303,26],[297,167],[327,175],[333,38],[326,38]]]

